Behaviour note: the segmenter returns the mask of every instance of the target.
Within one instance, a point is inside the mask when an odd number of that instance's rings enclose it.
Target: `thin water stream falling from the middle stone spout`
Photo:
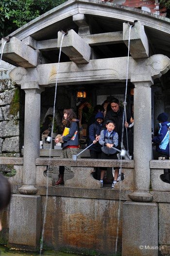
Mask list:
[[[47,216],[47,203],[48,203],[48,193],[49,193],[49,170],[50,170],[50,158],[51,158],[51,149],[52,149],[52,134],[53,134],[53,128],[54,128],[54,118],[55,118],[55,103],[56,103],[56,95],[57,95],[57,82],[58,82],[58,73],[59,73],[59,64],[60,64],[60,56],[61,56],[61,48],[62,48],[62,42],[65,34],[62,34],[61,38],[61,44],[60,44],[60,52],[59,52],[59,58],[58,58],[58,65],[56,70],[56,84],[55,84],[55,94],[54,94],[54,104],[53,104],[53,117],[52,117],[52,129],[51,129],[51,143],[50,143],[50,151],[49,151],[49,164],[47,167],[47,178],[46,178],[46,201],[45,201],[45,209],[44,209],[44,219],[43,219],[43,228],[42,228],[42,234],[41,234],[41,240],[40,240],[40,251],[39,255],[42,255],[43,250],[43,241],[44,241],[44,228],[46,223],[46,216]]]

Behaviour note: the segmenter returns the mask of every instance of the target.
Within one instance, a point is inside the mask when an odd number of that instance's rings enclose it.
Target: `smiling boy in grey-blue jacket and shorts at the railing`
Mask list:
[[[99,143],[102,145],[102,159],[118,159],[117,150],[113,147],[117,147],[119,143],[118,133],[114,131],[115,123],[112,120],[106,121],[106,130],[101,131],[101,135],[99,138]],[[103,177],[104,173],[107,170],[106,167],[102,167],[101,170],[101,187],[103,186]],[[119,175],[119,169],[115,170],[114,181],[112,183],[112,188],[115,188],[115,184],[117,183],[117,178]]]

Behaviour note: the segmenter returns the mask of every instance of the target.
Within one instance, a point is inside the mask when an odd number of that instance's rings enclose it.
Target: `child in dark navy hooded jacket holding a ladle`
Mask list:
[[[102,112],[98,112],[95,116],[95,122],[89,126],[89,145],[93,143],[93,145],[89,148],[90,150],[90,158],[100,159],[101,158],[101,145],[99,144],[99,137],[101,134],[102,123],[104,120],[104,116]],[[96,172],[94,173],[94,178],[100,180],[100,168],[96,168]]]

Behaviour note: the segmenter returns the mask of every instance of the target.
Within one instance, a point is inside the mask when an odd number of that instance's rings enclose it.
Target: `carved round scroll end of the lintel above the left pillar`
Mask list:
[[[17,84],[21,85],[25,82],[26,76],[27,76],[27,70],[26,68],[14,68],[9,73],[10,78],[12,81],[16,82]]]

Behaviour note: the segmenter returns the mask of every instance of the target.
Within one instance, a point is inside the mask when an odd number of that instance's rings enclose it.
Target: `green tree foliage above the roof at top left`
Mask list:
[[[5,37],[65,1],[0,0],[0,37]]]

